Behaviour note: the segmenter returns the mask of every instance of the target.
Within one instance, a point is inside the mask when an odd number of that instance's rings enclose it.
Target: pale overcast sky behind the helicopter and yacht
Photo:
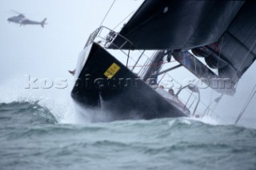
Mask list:
[[[14,95],[56,93],[55,102],[61,102],[61,95],[70,95],[70,88],[50,89],[43,91],[24,89],[26,76],[34,78],[72,78],[67,69],[74,69],[78,53],[86,43],[90,33],[102,22],[112,0],[1,0],[0,1],[0,93],[2,101]],[[136,10],[142,0],[116,0],[104,26],[114,28]],[[19,26],[8,23],[7,18],[16,14],[16,10],[26,15],[26,18],[42,21],[47,18],[48,25]],[[226,121],[234,121],[241,111],[245,101],[256,83],[256,65],[243,75],[238,84],[238,92],[234,97],[223,97],[216,113]],[[174,71],[176,77],[190,77],[189,73],[182,73],[185,69]],[[22,93],[20,93],[22,92]],[[210,90],[202,94],[202,100],[210,102]],[[57,95],[58,94],[58,95]],[[52,97],[52,96],[49,97]],[[57,97],[56,97],[57,96]],[[214,93],[214,97],[218,94]],[[13,97],[13,98],[15,98]],[[7,100],[8,101],[8,100]],[[9,100],[10,101],[10,100]],[[254,124],[256,120],[255,98],[249,105],[243,124]],[[245,121],[247,120],[247,121]]]

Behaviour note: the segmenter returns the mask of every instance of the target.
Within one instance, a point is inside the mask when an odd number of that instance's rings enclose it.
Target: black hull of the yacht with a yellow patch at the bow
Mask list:
[[[186,117],[182,109],[156,93],[100,45],[93,43],[84,52],[87,54],[78,61],[78,80],[71,92],[83,109],[104,109],[106,121]],[[114,69],[113,63],[118,65]],[[96,113],[90,117],[102,121]]]

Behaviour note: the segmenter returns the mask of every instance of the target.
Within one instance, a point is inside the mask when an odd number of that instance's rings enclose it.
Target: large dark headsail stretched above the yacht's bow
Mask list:
[[[115,38],[115,49],[192,49],[217,42],[242,1],[147,0]]]

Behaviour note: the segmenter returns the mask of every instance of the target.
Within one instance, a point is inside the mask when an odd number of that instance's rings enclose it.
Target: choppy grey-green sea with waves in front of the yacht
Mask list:
[[[40,101],[0,103],[0,169],[256,169],[256,128],[208,119],[90,123]]]

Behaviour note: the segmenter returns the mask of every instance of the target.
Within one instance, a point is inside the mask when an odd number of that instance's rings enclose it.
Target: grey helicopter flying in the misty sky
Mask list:
[[[17,23],[17,24],[20,24],[20,26],[26,26],[26,25],[40,25],[42,26],[42,28],[46,25],[46,19],[47,18],[44,18],[42,20],[42,22],[35,22],[35,21],[32,21],[28,18],[25,17],[24,14],[22,13],[18,13],[14,10],[11,10],[12,12],[18,14],[17,16],[14,16],[14,17],[11,17],[11,18],[8,18],[7,21],[10,23],[10,22],[14,22],[14,23]]]

